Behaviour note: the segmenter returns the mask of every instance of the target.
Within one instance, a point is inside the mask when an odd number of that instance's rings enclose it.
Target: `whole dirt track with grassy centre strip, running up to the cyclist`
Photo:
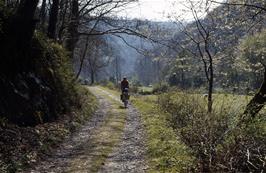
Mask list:
[[[144,132],[136,109],[122,109],[119,98],[89,88],[100,108],[51,157],[25,172],[145,172]]]

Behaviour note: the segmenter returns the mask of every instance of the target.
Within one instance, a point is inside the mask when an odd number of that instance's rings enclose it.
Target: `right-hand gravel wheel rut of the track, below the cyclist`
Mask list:
[[[102,92],[105,92],[113,99],[118,99],[106,91],[102,90]],[[140,115],[137,110],[129,104],[122,142],[108,157],[100,172],[145,172],[148,167],[144,160],[144,142],[145,138]]]

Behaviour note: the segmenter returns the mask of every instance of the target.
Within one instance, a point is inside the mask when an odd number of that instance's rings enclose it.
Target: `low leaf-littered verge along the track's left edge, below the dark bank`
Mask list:
[[[35,127],[0,126],[0,172],[17,172],[49,156],[93,114],[97,107],[96,98],[86,88],[76,87],[80,106],[61,115],[57,121]]]

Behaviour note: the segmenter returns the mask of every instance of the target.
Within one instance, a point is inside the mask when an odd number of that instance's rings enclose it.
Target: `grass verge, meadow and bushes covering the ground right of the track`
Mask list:
[[[151,87],[139,88],[143,89],[152,91]],[[266,109],[242,122],[251,96],[215,93],[213,111],[208,113],[206,95],[196,91],[172,88],[155,95],[131,94],[147,133],[150,172],[265,169]]]

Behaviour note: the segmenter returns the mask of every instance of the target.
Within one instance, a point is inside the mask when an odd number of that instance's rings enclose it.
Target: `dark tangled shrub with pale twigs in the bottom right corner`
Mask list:
[[[233,129],[217,147],[216,165],[230,172],[263,172],[266,163],[266,119],[257,117]]]

